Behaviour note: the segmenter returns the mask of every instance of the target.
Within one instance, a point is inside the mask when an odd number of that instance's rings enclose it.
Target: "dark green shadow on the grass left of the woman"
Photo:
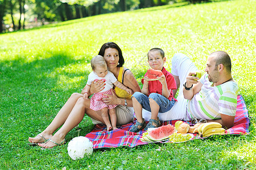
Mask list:
[[[52,57],[32,62],[24,58],[0,62],[0,120],[1,126],[5,127],[1,135],[7,137],[9,133],[14,134],[19,141],[45,129],[68,97],[73,92],[81,92],[90,72],[80,69],[69,73],[65,70],[66,66],[75,70],[77,64],[90,62],[89,57],[74,59],[65,54],[52,54]],[[64,71],[58,73],[56,70]],[[65,76],[71,82],[77,77],[80,79],[70,86],[59,86],[60,76]],[[85,117],[81,124],[85,130],[81,131],[81,135],[84,135],[87,127],[91,130],[92,126],[89,117]]]

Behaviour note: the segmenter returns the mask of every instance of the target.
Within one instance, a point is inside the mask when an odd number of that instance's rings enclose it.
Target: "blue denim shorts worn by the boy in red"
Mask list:
[[[135,99],[137,99],[138,102],[142,105],[142,108],[147,110],[148,112],[151,112],[149,98],[153,99],[159,105],[159,113],[170,111],[170,109],[175,104],[174,99],[169,100],[166,97],[156,93],[152,93],[149,96],[146,96],[141,92],[135,92],[131,97],[135,97]]]

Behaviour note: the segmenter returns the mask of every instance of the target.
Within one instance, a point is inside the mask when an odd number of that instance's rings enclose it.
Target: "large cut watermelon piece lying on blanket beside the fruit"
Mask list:
[[[167,139],[174,131],[175,128],[172,125],[160,126],[148,132],[147,138],[151,139],[151,141],[162,141],[163,139]]]

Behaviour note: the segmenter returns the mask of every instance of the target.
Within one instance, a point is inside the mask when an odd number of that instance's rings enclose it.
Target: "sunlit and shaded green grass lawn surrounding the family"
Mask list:
[[[0,169],[256,169],[255,6],[253,0],[169,5],[0,35]],[[28,137],[47,127],[72,92],[81,91],[90,59],[108,41],[121,47],[125,66],[138,82],[151,48],[164,50],[169,71],[177,52],[191,57],[200,70],[209,53],[228,52],[251,116],[251,133],[105,148],[77,161],[69,158],[67,145],[27,146]],[[68,133],[67,141],[92,130],[88,116],[79,128]]]

